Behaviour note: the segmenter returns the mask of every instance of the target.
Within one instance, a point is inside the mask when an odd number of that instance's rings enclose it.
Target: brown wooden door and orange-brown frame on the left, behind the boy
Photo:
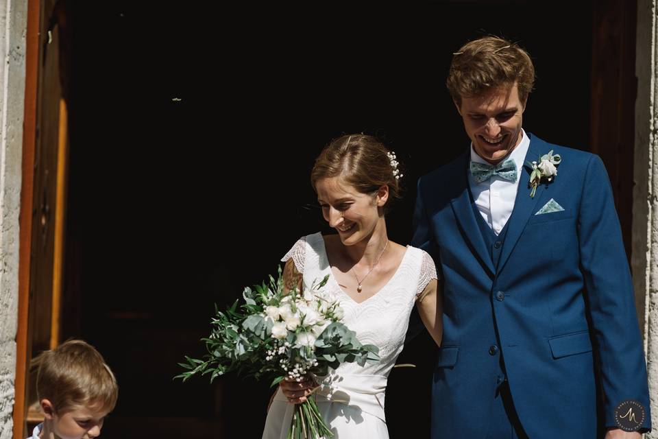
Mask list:
[[[29,368],[32,354],[35,349],[54,348],[60,342],[69,139],[61,70],[62,44],[70,43],[68,37],[62,43],[60,21],[66,21],[65,14],[65,5],[58,0],[28,0],[14,438],[28,436],[27,423],[42,420],[39,410],[31,412],[29,404],[33,401],[28,401],[36,396]],[[43,271],[44,267],[48,269]],[[35,307],[32,302],[36,300],[39,303]]]

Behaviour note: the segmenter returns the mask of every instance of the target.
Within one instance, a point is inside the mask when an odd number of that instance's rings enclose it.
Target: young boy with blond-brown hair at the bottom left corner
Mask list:
[[[34,359],[36,392],[44,422],[28,439],[89,439],[119,396],[117,380],[103,357],[82,340],[69,340]]]

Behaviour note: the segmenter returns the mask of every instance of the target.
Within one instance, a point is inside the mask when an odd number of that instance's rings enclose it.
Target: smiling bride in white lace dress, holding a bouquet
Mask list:
[[[432,258],[387,236],[385,211],[400,196],[393,152],[374,137],[353,134],[332,141],[315,160],[311,183],[335,235],[299,239],[282,261],[287,288],[310,286],[329,274],[324,291],[345,311],[343,322],[380,361],[343,363],[328,377],[283,381],[273,395],[263,439],[285,439],[295,403],[317,399],[335,439],[389,437],[384,414],[387,377],[402,351],[413,306],[432,338],[441,342],[441,300]]]

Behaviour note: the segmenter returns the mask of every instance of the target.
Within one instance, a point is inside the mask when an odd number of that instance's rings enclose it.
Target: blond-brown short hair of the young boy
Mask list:
[[[39,401],[48,399],[56,412],[94,407],[111,412],[119,386],[101,354],[82,340],[68,340],[33,360]]]

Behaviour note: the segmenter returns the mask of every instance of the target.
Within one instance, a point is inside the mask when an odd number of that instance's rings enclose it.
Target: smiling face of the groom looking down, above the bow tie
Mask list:
[[[462,97],[457,111],[478,156],[495,165],[514,150],[521,141],[526,100],[519,99],[517,84]]]

